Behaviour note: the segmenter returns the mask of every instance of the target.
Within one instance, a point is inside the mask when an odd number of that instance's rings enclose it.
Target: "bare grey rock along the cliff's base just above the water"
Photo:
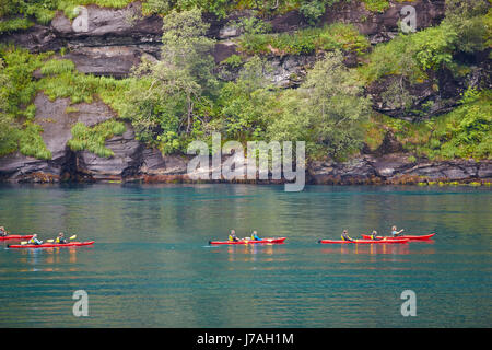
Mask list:
[[[43,128],[43,138],[52,153],[49,161],[36,160],[19,152],[0,158],[0,180],[58,183],[78,182],[189,182],[190,156],[162,155],[134,139],[130,124],[121,136],[106,141],[115,155],[101,158],[91,152],[73,152],[67,142],[75,122],[94,126],[114,117],[102,102],[72,105],[77,112],[67,113],[68,98],[50,102],[43,93],[35,98],[35,120]],[[229,156],[223,156],[222,163]],[[212,170],[211,170],[212,172]],[[211,176],[209,176],[211,178]],[[492,162],[468,160],[429,162],[409,160],[390,138],[373,154],[363,154],[345,163],[314,162],[308,164],[309,184],[415,184],[422,182],[490,182]],[[220,182],[220,180],[216,180]],[[247,180],[236,180],[247,182]],[[278,180],[260,180],[278,183]]]

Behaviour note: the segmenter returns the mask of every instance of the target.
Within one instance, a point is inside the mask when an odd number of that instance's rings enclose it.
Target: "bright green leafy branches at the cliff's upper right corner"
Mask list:
[[[471,52],[488,47],[489,8],[485,0],[446,1],[446,19],[438,26],[400,34],[377,45],[367,56],[370,62],[361,67],[361,77],[371,83],[395,74],[415,83],[425,80],[429,70],[443,67],[456,70],[459,67],[453,61],[453,55],[457,50]]]

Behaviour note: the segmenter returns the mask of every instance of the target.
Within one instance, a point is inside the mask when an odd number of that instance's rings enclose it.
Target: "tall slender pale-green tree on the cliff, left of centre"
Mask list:
[[[207,103],[216,80],[213,40],[204,36],[209,25],[201,11],[173,10],[163,23],[161,59],[143,60],[133,71],[137,81],[128,94],[129,115],[139,139],[157,140],[163,152],[172,152],[179,148],[180,133],[189,135],[194,125],[202,122],[197,105]]]

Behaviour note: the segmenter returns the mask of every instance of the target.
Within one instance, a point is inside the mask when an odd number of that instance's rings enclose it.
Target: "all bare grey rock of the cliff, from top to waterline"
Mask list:
[[[401,19],[400,10],[406,3],[395,2],[384,13],[373,13],[360,2],[341,2],[328,11],[321,24],[345,22],[355,24],[359,30],[379,43],[393,38]],[[438,23],[444,16],[444,1],[412,1],[417,8],[418,27]],[[159,59],[161,50],[162,19],[142,16],[138,2],[121,10],[102,9],[94,5],[87,9],[87,27],[80,31],[75,22],[58,13],[49,25],[35,25],[26,31],[0,36],[0,43],[14,43],[33,52],[67,48],[65,58],[71,59],[78,70],[85,73],[110,77],[126,77],[131,67],[138,65],[142,57]],[[231,38],[239,35],[237,28],[226,24],[247,13],[233,13],[230,18],[218,21],[209,19],[209,35],[219,42],[213,52],[220,62],[235,52]],[[306,26],[302,15],[292,11],[270,19],[274,32],[285,32]],[[295,86],[305,71],[316,60],[314,56],[270,57],[273,68],[267,79],[281,86]],[[478,66],[467,79],[479,81],[487,78],[480,70],[490,71],[490,67]],[[415,105],[434,101],[434,110],[438,114],[453,106],[454,100],[462,91],[464,82],[454,80],[446,72],[438,77],[443,89],[435,92],[425,82],[409,86],[418,97]],[[483,78],[485,77],[485,78]],[[225,72],[223,79],[234,79],[234,72]],[[387,82],[388,84],[390,81]],[[490,82],[489,82],[490,84]],[[385,105],[379,98],[383,85],[367,86],[373,96],[374,108],[398,117],[398,108]],[[130,124],[127,131],[106,142],[115,153],[109,159],[99,158],[87,151],[73,152],[67,147],[71,138],[71,127],[80,121],[93,126],[115,117],[108,106],[101,101],[92,104],[78,104],[78,112],[67,113],[69,100],[59,98],[50,102],[39,93],[35,98],[35,120],[43,129],[43,138],[52,153],[49,161],[36,160],[20,153],[0,158],[0,179],[10,182],[60,182],[60,180],[142,180],[142,182],[187,182],[186,156],[163,156],[159,150],[147,149],[134,139]],[[372,154],[362,154],[347,163],[317,162],[308,165],[307,180],[314,184],[383,184],[417,183],[429,180],[488,180],[492,178],[492,162],[449,161],[427,162],[409,160],[397,148],[378,150]]]

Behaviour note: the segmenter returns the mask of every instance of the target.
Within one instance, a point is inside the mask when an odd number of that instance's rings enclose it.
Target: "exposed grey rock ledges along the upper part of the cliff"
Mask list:
[[[391,39],[398,33],[398,22],[405,2],[391,3],[384,13],[367,11],[358,1],[340,2],[329,8],[321,18],[319,25],[335,22],[353,23],[362,34],[367,35],[372,43]],[[444,1],[413,1],[417,9],[417,26],[425,28],[437,24],[444,16]],[[226,19],[208,18],[209,35],[218,43],[213,56],[220,62],[235,52],[236,46],[231,38],[241,35],[241,31],[227,24],[242,16],[250,15],[248,11],[230,14]],[[297,11],[291,11],[267,20],[272,31],[292,32],[307,26],[306,21]],[[125,77],[142,56],[159,58],[161,50],[162,18],[142,16],[141,4],[130,3],[128,7],[104,9],[96,5],[86,7],[86,26],[70,21],[61,12],[49,25],[34,25],[26,31],[0,35],[0,43],[13,43],[33,52],[67,48],[68,59],[74,61],[77,69],[84,73],[99,75]],[[302,75],[306,57],[271,57],[274,68],[272,81],[281,85],[291,85],[288,78],[295,73]]]

